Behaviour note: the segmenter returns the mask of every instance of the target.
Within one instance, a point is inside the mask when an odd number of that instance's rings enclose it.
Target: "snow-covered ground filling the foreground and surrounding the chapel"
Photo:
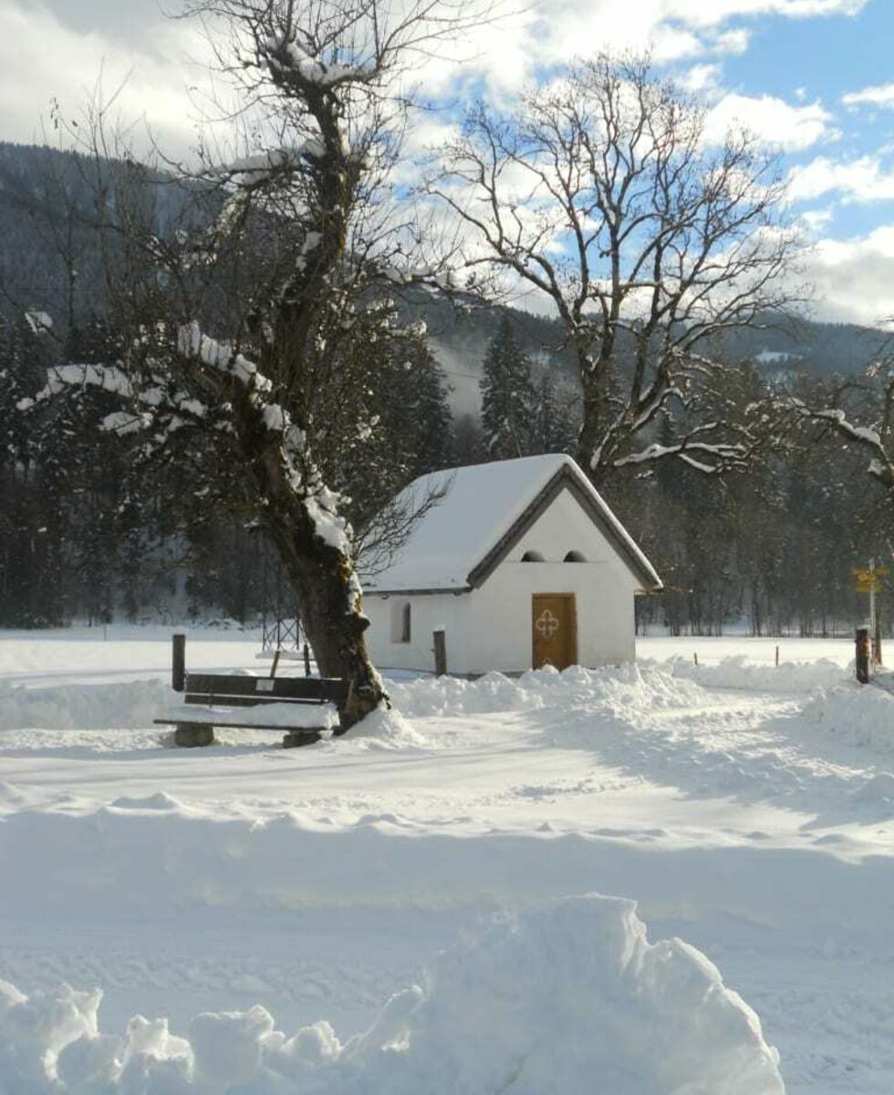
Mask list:
[[[175,750],[169,634],[0,633],[3,1095],[894,1091],[894,696],[850,643]]]

